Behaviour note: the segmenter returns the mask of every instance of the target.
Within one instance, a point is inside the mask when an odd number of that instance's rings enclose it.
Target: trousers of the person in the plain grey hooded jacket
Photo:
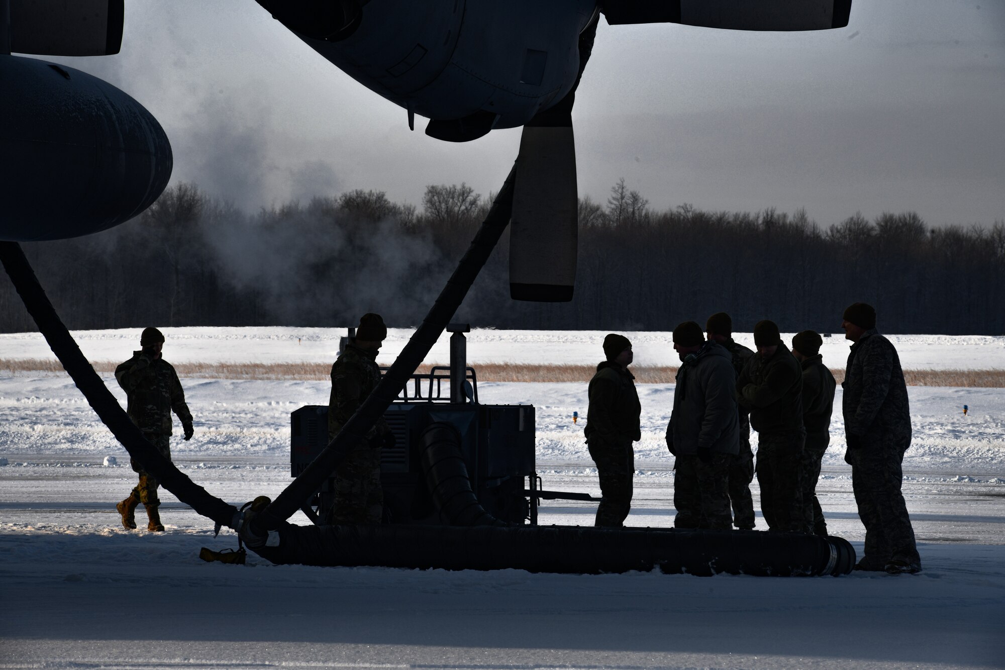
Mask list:
[[[675,528],[730,530],[729,480],[732,454],[713,454],[711,463],[697,455],[678,456],[673,464],[673,517]]]

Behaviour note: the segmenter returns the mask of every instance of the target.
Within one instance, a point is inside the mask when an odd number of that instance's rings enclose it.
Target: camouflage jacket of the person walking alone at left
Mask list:
[[[182,425],[192,423],[178,373],[163,358],[151,359],[143,351],[116,368],[116,380],[129,397],[127,413],[144,433],[171,435],[171,411]]]

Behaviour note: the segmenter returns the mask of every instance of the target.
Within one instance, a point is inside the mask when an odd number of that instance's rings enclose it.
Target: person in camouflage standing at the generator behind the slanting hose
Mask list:
[[[328,407],[328,438],[334,440],[342,427],[380,383],[377,353],[387,337],[387,327],[378,314],[364,314],[356,337],[332,365],[332,397]],[[356,449],[335,469],[334,498],[326,520],[330,524],[380,523],[384,514],[384,490],[380,483],[381,452],[394,444],[387,422],[381,417]]]

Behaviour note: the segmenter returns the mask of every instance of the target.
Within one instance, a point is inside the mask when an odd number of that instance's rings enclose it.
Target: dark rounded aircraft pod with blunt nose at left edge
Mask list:
[[[171,177],[157,119],[72,67],[0,55],[0,239],[76,237],[136,216]]]

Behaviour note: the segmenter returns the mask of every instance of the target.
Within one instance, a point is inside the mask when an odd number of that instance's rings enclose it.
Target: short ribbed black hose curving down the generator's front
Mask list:
[[[460,436],[449,424],[436,422],[422,432],[419,462],[426,486],[432,494],[436,508],[453,526],[505,526],[481,506],[467,466],[460,453]]]

